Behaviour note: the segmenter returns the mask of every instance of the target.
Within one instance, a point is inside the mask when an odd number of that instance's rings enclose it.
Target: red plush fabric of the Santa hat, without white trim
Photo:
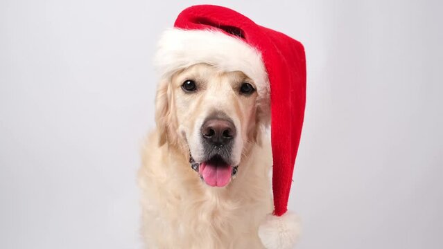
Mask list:
[[[287,210],[304,118],[306,60],[302,44],[220,6],[186,8],[177,17],[175,28],[220,30],[242,37],[261,52],[270,81],[274,214],[281,216]]]

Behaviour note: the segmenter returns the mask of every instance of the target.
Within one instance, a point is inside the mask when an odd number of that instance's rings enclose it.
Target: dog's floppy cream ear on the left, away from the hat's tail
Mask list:
[[[166,142],[174,142],[173,130],[176,127],[175,113],[173,111],[173,91],[171,80],[164,79],[159,83],[155,97],[155,122],[159,132],[159,146]]]

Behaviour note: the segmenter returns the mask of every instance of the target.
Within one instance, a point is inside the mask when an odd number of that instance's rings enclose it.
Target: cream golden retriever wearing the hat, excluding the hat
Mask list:
[[[256,89],[244,73],[208,64],[159,83],[139,170],[147,248],[263,248],[272,156],[269,94]]]

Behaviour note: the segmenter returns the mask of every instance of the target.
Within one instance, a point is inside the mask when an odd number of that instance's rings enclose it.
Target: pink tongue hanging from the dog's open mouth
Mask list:
[[[231,181],[231,165],[212,165],[201,163],[200,174],[207,185],[211,187],[225,187]]]

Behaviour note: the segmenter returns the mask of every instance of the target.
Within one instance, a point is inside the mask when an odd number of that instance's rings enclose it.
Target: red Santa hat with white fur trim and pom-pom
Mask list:
[[[306,61],[302,44],[259,26],[234,10],[192,6],[159,41],[156,64],[163,75],[206,63],[223,71],[243,71],[259,98],[270,94],[274,212],[259,228],[266,248],[292,248],[299,228],[288,213],[288,197],[304,118]]]

